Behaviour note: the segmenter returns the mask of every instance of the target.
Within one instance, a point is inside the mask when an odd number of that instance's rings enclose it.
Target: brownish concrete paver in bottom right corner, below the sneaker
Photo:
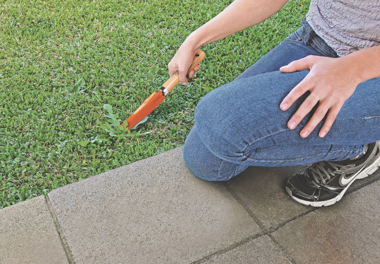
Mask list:
[[[302,263],[380,263],[380,181],[276,230],[273,237]]]

